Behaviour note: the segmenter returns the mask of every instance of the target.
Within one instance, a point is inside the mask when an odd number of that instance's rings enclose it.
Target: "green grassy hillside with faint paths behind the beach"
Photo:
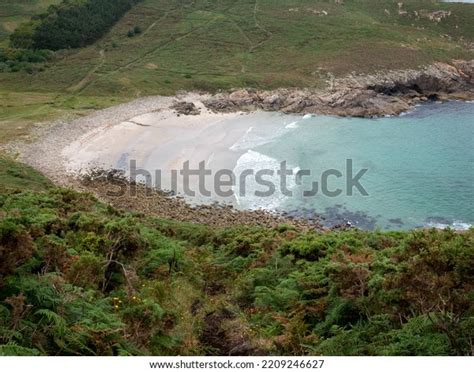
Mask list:
[[[0,74],[0,142],[26,134],[35,120],[143,95],[321,86],[328,73],[417,67],[474,55],[466,48],[474,40],[473,6],[404,2],[404,10],[452,10],[437,23],[400,16],[391,0],[344,3],[144,0],[102,40],[64,52],[46,71]],[[127,38],[135,25],[144,32]]]

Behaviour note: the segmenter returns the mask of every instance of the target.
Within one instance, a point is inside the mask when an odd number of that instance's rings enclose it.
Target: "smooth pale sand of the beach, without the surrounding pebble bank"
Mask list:
[[[152,187],[186,195],[181,177],[176,184],[172,182],[172,172],[179,175],[185,162],[190,169],[204,164],[212,175],[223,169],[232,171],[244,150],[229,149],[245,135],[250,124],[231,121],[243,113],[212,113],[199,100],[191,102],[199,115],[182,115],[164,108],[86,131],[61,151],[66,174],[76,177],[94,169],[116,169],[132,180],[145,182],[146,171],[151,175]],[[211,195],[205,196],[198,193],[198,177],[190,177],[189,187],[196,197],[188,201],[233,203],[233,198],[219,198],[213,180],[212,176],[206,177],[205,187]]]

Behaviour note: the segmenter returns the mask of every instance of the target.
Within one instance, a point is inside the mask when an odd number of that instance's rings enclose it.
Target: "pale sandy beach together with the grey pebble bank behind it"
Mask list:
[[[180,177],[174,185],[172,171],[179,174],[185,162],[189,162],[190,169],[204,162],[206,170],[212,172],[205,179],[211,195],[200,194],[198,177],[190,177],[189,186],[196,195],[187,201],[235,204],[234,196],[216,194],[214,175],[234,170],[247,151],[235,145],[254,129],[255,123],[239,120],[245,119],[247,112],[210,111],[203,104],[205,99],[207,95],[195,93],[141,98],[70,122],[40,127],[35,142],[16,144],[14,151],[21,161],[58,185],[81,188],[78,181],[98,169],[120,170],[129,177],[131,164],[136,164],[137,181],[145,181],[141,171],[146,170],[152,177],[151,186],[180,195],[186,194],[183,180]],[[176,109],[177,103],[184,102],[193,105],[194,115]]]

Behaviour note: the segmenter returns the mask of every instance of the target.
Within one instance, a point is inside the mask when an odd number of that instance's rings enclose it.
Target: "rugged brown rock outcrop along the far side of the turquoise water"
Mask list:
[[[215,112],[282,111],[340,116],[397,115],[427,100],[474,99],[474,60],[435,63],[422,70],[335,79],[325,90],[240,89],[221,93],[204,105]]]

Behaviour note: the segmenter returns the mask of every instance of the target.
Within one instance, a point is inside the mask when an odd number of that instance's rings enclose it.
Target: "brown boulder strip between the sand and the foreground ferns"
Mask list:
[[[349,225],[341,224],[329,229],[323,226],[321,217],[315,214],[310,218],[299,218],[266,210],[237,210],[227,204],[191,205],[182,197],[142,184],[131,184],[115,171],[96,170],[76,179],[74,184],[75,189],[90,192],[120,210],[214,228],[232,226],[278,228],[286,225],[298,230],[320,232],[350,228]]]

